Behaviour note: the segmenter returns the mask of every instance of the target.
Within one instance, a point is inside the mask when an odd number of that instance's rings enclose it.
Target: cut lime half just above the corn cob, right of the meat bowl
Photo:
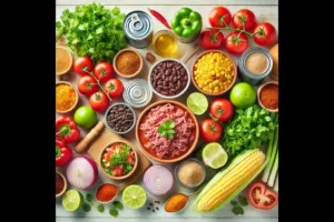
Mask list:
[[[210,142],[204,147],[202,158],[204,163],[213,169],[222,168],[228,159],[224,148],[216,142]]]

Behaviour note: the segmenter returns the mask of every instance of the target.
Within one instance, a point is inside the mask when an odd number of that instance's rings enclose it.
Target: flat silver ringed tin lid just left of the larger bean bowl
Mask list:
[[[151,100],[153,92],[146,80],[135,79],[125,84],[122,99],[132,108],[143,108]]]

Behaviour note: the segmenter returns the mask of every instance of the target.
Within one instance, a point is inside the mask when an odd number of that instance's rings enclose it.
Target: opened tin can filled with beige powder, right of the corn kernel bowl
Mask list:
[[[261,83],[272,71],[273,59],[267,50],[253,47],[244,51],[238,63],[240,79],[252,85]]]

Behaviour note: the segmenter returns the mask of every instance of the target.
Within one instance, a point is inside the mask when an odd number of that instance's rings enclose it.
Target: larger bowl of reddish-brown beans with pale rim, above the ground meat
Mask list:
[[[158,97],[175,99],[184,94],[190,84],[188,68],[176,59],[155,63],[148,73],[148,85]]]

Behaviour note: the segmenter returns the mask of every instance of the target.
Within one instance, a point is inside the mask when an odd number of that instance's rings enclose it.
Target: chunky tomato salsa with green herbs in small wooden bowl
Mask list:
[[[105,172],[112,176],[124,176],[132,171],[136,163],[134,150],[126,143],[116,142],[109,145],[104,154],[101,164]]]

